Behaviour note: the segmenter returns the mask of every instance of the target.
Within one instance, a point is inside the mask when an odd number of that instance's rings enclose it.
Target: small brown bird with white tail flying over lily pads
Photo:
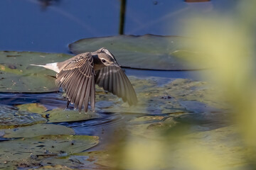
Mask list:
[[[45,65],[31,64],[56,72],[55,84],[65,91],[69,103],[75,109],[87,113],[90,107],[95,112],[95,84],[105,91],[122,98],[129,106],[137,104],[137,95],[114,55],[102,47],[95,52],[84,52],[63,62],[53,62]]]

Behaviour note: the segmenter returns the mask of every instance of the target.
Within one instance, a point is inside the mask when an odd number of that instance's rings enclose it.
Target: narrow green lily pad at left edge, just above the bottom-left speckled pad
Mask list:
[[[72,128],[63,125],[38,124],[15,129],[6,129],[3,137],[36,137],[41,135],[75,135]]]

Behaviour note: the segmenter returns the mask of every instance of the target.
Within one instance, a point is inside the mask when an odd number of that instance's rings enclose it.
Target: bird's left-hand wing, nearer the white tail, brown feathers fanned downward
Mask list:
[[[85,112],[90,106],[95,109],[95,72],[90,52],[82,53],[68,60],[68,64],[57,74],[57,86],[63,88],[68,100],[75,104],[75,108]]]

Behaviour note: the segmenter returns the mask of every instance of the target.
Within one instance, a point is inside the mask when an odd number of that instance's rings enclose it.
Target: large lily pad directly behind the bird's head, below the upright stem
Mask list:
[[[85,38],[73,42],[69,48],[71,52],[78,55],[82,52],[93,52],[100,47],[107,47],[122,67],[135,69],[206,69],[207,66],[203,64],[203,55],[191,49],[193,41],[190,38],[177,36],[118,35]]]

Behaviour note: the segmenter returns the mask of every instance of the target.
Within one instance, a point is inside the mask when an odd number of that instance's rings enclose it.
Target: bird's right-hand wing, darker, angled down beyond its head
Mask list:
[[[137,96],[128,77],[124,74],[121,67],[107,66],[95,72],[95,83],[117,95],[129,105],[137,103]]]

